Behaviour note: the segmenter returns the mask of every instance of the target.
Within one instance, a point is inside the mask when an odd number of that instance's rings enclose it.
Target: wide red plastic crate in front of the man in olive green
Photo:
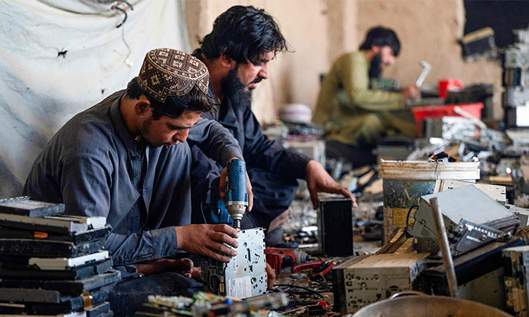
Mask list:
[[[444,104],[442,106],[412,107],[411,112],[413,113],[413,117],[415,117],[415,125],[419,137],[422,137],[422,120],[425,118],[461,117],[454,112],[454,107],[456,106],[470,113],[475,118],[481,119],[481,109],[483,108],[481,102],[476,102],[475,104]]]

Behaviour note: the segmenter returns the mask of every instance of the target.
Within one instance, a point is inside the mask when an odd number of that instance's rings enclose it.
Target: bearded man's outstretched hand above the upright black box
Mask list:
[[[342,194],[345,197],[351,198],[353,207],[356,207],[356,199],[353,194],[346,187],[338,185],[327,173],[322,166],[315,160],[310,160],[307,164],[307,187],[310,192],[310,200],[312,207],[317,209],[318,206],[318,192],[329,192],[333,194]]]

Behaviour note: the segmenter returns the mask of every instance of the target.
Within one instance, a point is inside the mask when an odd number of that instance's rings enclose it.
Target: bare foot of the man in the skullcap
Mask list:
[[[202,281],[200,273],[202,269],[200,267],[193,267],[193,261],[190,259],[156,259],[145,261],[142,263],[136,263],[138,272],[144,275],[153,275],[164,272],[176,272],[186,276],[186,278],[194,278],[195,280]]]

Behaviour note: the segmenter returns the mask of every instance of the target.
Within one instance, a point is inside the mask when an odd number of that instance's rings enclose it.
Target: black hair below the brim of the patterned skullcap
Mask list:
[[[218,104],[212,94],[203,93],[197,85],[183,96],[169,96],[165,102],[160,102],[150,97],[148,92],[138,84],[138,77],[134,77],[128,82],[127,96],[130,99],[140,99],[142,94],[150,101],[152,120],[158,120],[162,116],[178,118],[184,111],[215,111],[215,106]]]

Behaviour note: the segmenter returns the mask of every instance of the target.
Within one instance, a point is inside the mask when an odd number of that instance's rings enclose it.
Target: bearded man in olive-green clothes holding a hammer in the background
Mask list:
[[[382,70],[394,64],[400,49],[393,30],[373,27],[360,51],[334,61],[312,117],[326,130],[327,156],[349,159],[353,166],[376,163],[372,149],[381,137],[415,137],[406,101],[418,97],[419,88],[412,85],[401,92],[378,88]]]

